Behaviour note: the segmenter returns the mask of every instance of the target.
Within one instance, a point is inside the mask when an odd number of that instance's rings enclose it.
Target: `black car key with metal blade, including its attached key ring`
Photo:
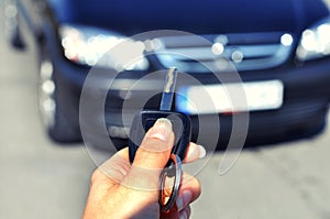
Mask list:
[[[145,132],[153,127],[156,120],[160,118],[167,118],[172,122],[175,142],[169,161],[166,164],[168,168],[164,168],[160,176],[158,202],[162,211],[168,211],[174,206],[178,196],[183,172],[182,161],[185,158],[191,134],[190,118],[185,113],[170,111],[173,97],[175,95],[176,78],[177,70],[175,68],[169,68],[165,78],[160,110],[143,110],[138,113],[133,119],[129,140],[129,155],[130,161],[133,162]],[[173,189],[168,198],[166,198],[165,195],[166,177],[174,177]]]

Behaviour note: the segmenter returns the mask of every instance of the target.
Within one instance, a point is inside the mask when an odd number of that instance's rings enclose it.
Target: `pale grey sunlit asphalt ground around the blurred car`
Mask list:
[[[0,218],[79,218],[96,165],[82,144],[58,145],[44,133],[34,51],[10,50],[3,34],[0,48]],[[202,195],[193,218],[329,219],[329,143],[328,128],[314,139],[245,150],[223,175],[224,154],[213,154],[197,175]]]

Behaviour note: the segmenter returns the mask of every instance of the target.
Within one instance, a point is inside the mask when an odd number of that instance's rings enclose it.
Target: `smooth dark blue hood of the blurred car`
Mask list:
[[[94,25],[129,35],[152,30],[299,34],[329,13],[321,0],[48,1],[59,23]]]

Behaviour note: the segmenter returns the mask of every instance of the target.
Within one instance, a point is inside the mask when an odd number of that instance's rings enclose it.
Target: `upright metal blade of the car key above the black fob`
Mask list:
[[[174,91],[175,91],[176,78],[177,78],[176,68],[175,67],[169,68],[165,78],[160,110],[170,111]]]

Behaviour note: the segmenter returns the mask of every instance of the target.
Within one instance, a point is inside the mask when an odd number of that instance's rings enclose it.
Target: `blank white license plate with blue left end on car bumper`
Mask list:
[[[283,90],[280,80],[182,87],[176,109],[188,114],[278,109]]]

